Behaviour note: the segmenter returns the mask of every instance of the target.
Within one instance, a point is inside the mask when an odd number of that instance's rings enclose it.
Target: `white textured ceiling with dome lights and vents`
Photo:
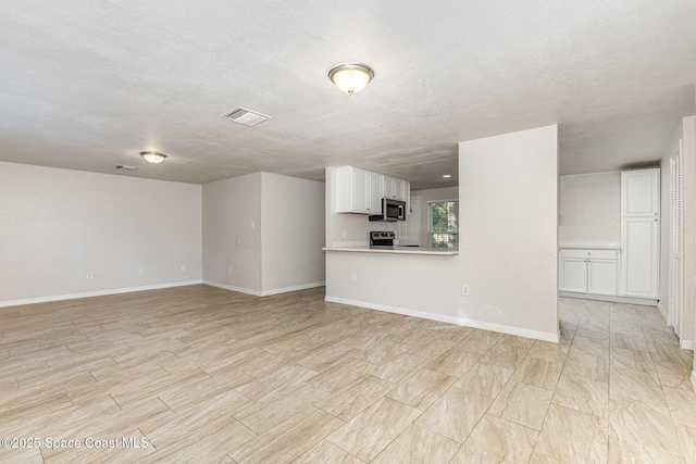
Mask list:
[[[562,173],[618,170],[695,113],[695,24],[694,0],[2,0],[0,160],[200,184],[353,164],[420,189],[457,185],[459,141],[559,124]],[[340,92],[341,61],[374,80]]]

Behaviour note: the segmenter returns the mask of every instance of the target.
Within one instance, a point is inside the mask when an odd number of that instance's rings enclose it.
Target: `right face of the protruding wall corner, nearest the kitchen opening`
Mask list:
[[[261,186],[261,291],[324,285],[324,183],[262,173]]]

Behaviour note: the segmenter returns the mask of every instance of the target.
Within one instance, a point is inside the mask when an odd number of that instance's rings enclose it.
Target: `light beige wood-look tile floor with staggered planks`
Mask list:
[[[696,462],[693,354],[658,311],[560,319],[549,343],[321,288],[0,309],[0,437],[23,447],[0,462]]]

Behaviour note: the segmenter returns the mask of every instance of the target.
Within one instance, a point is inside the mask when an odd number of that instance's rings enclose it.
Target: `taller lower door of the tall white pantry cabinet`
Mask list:
[[[660,221],[624,217],[621,237],[622,296],[658,298]]]

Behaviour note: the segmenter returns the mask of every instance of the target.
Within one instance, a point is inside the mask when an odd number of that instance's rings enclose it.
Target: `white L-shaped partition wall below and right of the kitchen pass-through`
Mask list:
[[[461,142],[459,179],[459,255],[330,251],[326,299],[558,340],[558,127]]]

